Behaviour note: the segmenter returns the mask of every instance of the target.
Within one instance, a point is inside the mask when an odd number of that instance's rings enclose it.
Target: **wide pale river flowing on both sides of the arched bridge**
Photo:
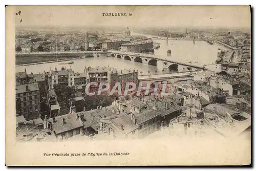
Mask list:
[[[133,35],[143,35],[138,33],[132,33]],[[153,37],[150,35],[146,35],[147,37]],[[195,44],[193,41],[186,40],[156,40],[154,41],[160,43],[160,48],[155,50],[155,55],[164,56],[167,58],[181,59],[181,60],[189,60],[194,62],[199,62],[202,64],[210,64],[215,62],[217,59],[218,48],[222,48],[227,50],[224,46],[219,44],[209,45],[205,41],[196,41]],[[172,54],[167,56],[166,51],[171,50]],[[34,74],[38,72],[49,71],[50,67],[54,70],[56,67],[58,70],[61,69],[62,66],[66,68],[72,68],[75,72],[83,72],[84,67],[114,67],[117,69],[135,69],[138,70],[139,73],[142,72],[143,75],[162,73],[161,69],[155,66],[148,66],[143,63],[133,62],[129,60],[114,58],[114,57],[94,57],[94,58],[85,58],[85,59],[76,59],[72,60],[74,63],[71,65],[60,65],[61,62],[53,62],[53,63],[44,63],[40,65],[31,65],[31,66],[16,66],[16,72],[22,72],[27,70],[27,73],[33,72]],[[140,74],[141,75],[141,74]]]

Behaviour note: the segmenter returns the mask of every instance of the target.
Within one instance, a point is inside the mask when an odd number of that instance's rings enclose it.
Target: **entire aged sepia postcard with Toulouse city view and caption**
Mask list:
[[[7,6],[6,165],[251,164],[250,17]]]

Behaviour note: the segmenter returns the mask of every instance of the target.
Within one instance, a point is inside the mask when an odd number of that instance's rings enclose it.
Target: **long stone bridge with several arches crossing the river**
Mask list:
[[[200,63],[195,63],[185,60],[166,59],[167,56],[155,56],[150,54],[129,53],[120,51],[109,51],[110,56],[130,60],[134,62],[140,62],[151,66],[157,66],[159,69],[185,72],[196,71],[198,69],[204,69],[204,66]]]

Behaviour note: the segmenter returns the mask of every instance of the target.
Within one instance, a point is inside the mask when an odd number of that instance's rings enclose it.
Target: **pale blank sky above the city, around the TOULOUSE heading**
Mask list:
[[[249,6],[16,6],[16,26],[248,27]],[[102,17],[103,12],[132,13]],[[22,23],[20,23],[22,18]]]

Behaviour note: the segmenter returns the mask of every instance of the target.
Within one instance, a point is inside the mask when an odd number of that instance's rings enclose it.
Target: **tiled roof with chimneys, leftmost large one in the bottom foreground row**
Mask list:
[[[63,124],[65,119],[65,124]],[[82,122],[77,119],[76,114],[66,114],[55,117],[56,122],[53,122],[53,118],[48,119],[52,123],[52,129],[56,134],[64,133],[70,130],[82,127]]]

